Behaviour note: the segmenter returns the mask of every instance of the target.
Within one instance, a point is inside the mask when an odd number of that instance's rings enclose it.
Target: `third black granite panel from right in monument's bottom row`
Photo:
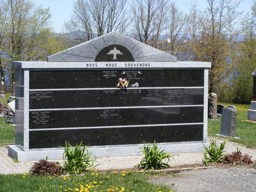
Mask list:
[[[154,143],[162,142],[163,137],[163,127],[162,126],[147,126],[141,127],[141,139],[142,141]]]

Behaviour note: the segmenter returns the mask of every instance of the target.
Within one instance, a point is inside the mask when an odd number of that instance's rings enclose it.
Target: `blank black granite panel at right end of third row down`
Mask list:
[[[184,107],[184,123],[200,123],[204,118],[203,106]]]

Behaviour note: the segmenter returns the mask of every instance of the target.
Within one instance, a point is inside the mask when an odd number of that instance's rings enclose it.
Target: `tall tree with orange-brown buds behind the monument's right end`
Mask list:
[[[218,94],[218,86],[229,76],[234,66],[228,60],[230,44],[239,34],[234,26],[236,18],[240,16],[236,11],[240,1],[207,0],[207,3],[204,12],[197,11],[195,7],[191,9],[188,28],[192,33],[187,37],[187,56],[188,60],[211,62],[209,93]]]

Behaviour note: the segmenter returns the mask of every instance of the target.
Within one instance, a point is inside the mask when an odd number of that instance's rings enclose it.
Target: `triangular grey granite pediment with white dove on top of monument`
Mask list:
[[[112,52],[111,52],[112,50]],[[114,52],[114,50],[116,52]],[[120,53],[119,50],[122,52]],[[117,52],[118,51],[118,52]],[[113,54],[114,52],[114,54]],[[128,58],[119,60],[118,57]],[[47,57],[48,62],[94,62],[110,55],[113,61],[176,62],[177,58],[118,32],[111,32]],[[123,55],[123,56],[122,56]],[[116,58],[117,57],[117,58]],[[104,59],[104,58],[103,58]],[[125,60],[126,59],[126,60]],[[102,60],[103,61],[103,60]],[[105,60],[104,60],[105,61]]]

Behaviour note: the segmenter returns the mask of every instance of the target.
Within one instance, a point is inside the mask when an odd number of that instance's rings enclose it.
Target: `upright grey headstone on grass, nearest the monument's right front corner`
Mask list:
[[[238,111],[232,108],[224,108],[221,118],[221,133],[225,137],[236,137]]]

